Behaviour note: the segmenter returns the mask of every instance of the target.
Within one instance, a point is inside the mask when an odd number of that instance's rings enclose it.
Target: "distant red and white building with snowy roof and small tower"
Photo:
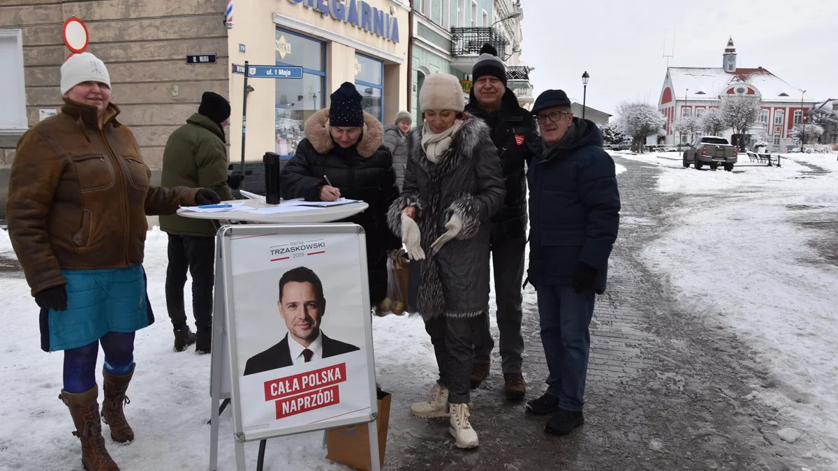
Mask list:
[[[701,117],[706,110],[722,106],[722,100],[732,96],[759,101],[760,115],[748,130],[746,144],[768,142],[770,152],[779,152],[794,144],[792,129],[805,122],[806,113],[817,104],[802,90],[763,67],[738,67],[736,48],[730,39],[722,54],[722,67],[670,67],[666,70],[658,102],[658,109],[666,117],[665,143],[688,142],[689,136],[675,132],[675,122],[684,116]],[[728,129],[722,137],[731,140],[732,134],[732,129]]]

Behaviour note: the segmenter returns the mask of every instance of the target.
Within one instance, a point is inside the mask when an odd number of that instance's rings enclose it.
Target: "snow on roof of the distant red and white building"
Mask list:
[[[763,101],[793,101],[800,96],[797,88],[763,68],[737,69],[728,74],[722,67],[670,67],[669,74],[675,99],[683,100],[687,93],[691,100],[716,100],[727,85],[737,80],[757,87]],[[808,95],[804,99],[813,101]]]

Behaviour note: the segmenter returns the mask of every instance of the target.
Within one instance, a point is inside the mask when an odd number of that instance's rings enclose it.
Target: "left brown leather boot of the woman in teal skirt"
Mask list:
[[[58,398],[70,409],[75,432],[81,440],[81,465],[86,471],[119,471],[111,455],[105,448],[102,437],[102,424],[99,418],[99,388],[93,386],[89,391],[70,394],[62,390]]]

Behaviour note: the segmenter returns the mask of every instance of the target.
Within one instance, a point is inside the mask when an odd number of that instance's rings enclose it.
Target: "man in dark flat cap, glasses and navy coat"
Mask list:
[[[561,90],[538,96],[532,109],[541,131],[530,183],[530,268],[538,294],[541,343],[550,376],[532,414],[554,413],[546,431],[563,435],[585,422],[585,377],[595,293],[605,292],[608,256],[617,239],[620,195],[603,135],[573,117]]]

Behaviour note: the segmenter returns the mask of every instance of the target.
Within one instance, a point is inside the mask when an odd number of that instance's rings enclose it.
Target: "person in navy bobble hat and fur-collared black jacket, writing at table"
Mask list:
[[[381,144],[384,127],[363,111],[355,85],[344,83],[331,98],[330,108],[308,118],[306,137],[282,168],[280,192],[284,199],[344,197],[370,205],[343,222],[358,224],[366,232],[370,303],[380,311],[387,292],[387,251],[401,247],[386,225],[387,209],[399,195],[396,171],[390,151]]]

